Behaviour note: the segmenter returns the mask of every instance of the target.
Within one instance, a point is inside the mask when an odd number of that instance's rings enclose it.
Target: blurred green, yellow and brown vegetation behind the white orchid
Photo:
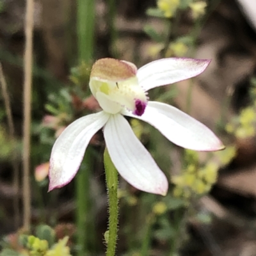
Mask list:
[[[189,113],[226,145],[211,154],[184,150],[129,120],[170,189],[165,197],[150,195],[120,179],[116,255],[256,255],[256,25],[239,3],[35,0],[30,230],[22,222],[28,200],[22,197],[25,6],[24,0],[0,0],[0,255],[104,255],[101,132],[70,184],[47,193],[47,174],[58,135],[99,109],[88,79],[93,62],[106,57],[137,67],[164,57],[211,59],[199,77],[152,90],[150,98]]]

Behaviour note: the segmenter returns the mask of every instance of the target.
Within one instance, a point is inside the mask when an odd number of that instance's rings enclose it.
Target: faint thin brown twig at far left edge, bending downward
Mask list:
[[[14,122],[12,118],[12,105],[10,102],[10,97],[8,95],[8,90],[7,90],[7,83],[6,79],[4,77],[4,72],[3,72],[3,67],[2,64],[0,63],[0,83],[1,83],[1,88],[2,88],[2,94],[3,94],[3,99],[4,99],[4,107],[6,111],[6,116],[7,116],[7,122],[8,122],[8,127],[10,131],[10,140],[13,141],[15,140],[15,128],[14,128]],[[14,212],[14,225],[15,228],[19,227],[19,197],[17,196],[19,192],[19,164],[17,161],[17,151],[14,150],[12,154],[12,168],[13,168],[13,191],[14,191],[14,196],[13,196],[13,212]]]

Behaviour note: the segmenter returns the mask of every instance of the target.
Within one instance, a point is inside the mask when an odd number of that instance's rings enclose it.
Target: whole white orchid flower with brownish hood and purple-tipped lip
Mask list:
[[[106,147],[118,173],[132,186],[166,195],[168,180],[136,138],[124,116],[138,118],[184,148],[214,151],[221,141],[205,125],[168,104],[148,101],[147,91],[202,73],[209,60],[165,58],[137,70],[127,61],[110,58],[95,62],[90,89],[102,111],[77,119],[61,133],[51,152],[49,191],[74,178],[92,136],[102,127]]]

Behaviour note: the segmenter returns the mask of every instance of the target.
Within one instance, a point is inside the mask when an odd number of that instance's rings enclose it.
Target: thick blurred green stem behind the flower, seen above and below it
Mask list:
[[[77,0],[77,52],[80,62],[84,61],[88,64],[92,62],[94,27],[95,0]],[[86,94],[90,94],[89,86]],[[86,150],[83,163],[85,168],[81,168],[76,176],[78,256],[87,255],[89,253],[89,246],[90,249],[93,249],[93,247],[95,249],[95,221],[92,219],[92,200],[90,198],[90,177],[93,168],[93,157],[90,147]]]

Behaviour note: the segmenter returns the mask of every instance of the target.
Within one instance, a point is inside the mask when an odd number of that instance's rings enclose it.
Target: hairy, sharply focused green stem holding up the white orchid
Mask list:
[[[108,189],[109,203],[109,236],[106,256],[114,256],[116,251],[118,230],[118,175],[116,168],[109,157],[107,148],[104,152],[104,166],[106,172],[106,184]]]

